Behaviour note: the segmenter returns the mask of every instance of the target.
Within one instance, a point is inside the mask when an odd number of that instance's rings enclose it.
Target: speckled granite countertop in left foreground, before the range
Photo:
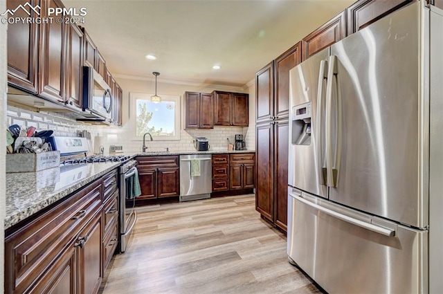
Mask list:
[[[120,163],[85,163],[6,174],[5,229],[103,176]]]

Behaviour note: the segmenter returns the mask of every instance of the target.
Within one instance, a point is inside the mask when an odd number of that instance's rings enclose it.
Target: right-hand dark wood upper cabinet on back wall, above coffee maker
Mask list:
[[[213,91],[214,125],[247,127],[249,125],[249,95]]]

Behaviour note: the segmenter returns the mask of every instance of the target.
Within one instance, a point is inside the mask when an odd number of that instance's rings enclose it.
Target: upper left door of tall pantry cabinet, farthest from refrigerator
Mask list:
[[[255,74],[256,122],[272,120],[274,101],[274,62]]]

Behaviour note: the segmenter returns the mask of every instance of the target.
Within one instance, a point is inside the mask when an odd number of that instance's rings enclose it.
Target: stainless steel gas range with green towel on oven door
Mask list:
[[[82,169],[89,166],[87,164],[120,162],[118,178],[120,183],[119,194],[119,246],[120,252],[125,252],[127,248],[127,241],[131,235],[134,225],[137,220],[137,213],[134,210],[135,197],[130,199],[128,196],[130,181],[137,173],[136,160],[128,155],[93,155],[86,156],[89,149],[89,144],[86,138],[68,138],[68,137],[54,137],[51,145],[53,149],[60,151],[61,167],[72,169],[73,176],[78,179],[79,175],[86,175],[87,172],[81,172]]]

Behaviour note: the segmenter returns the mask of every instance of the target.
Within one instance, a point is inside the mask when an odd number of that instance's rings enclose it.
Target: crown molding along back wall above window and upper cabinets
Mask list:
[[[120,79],[125,79],[125,80],[137,80],[137,81],[155,81],[154,77],[144,77],[141,75],[122,75],[122,74],[114,74],[113,77],[118,77]],[[231,91],[231,92],[236,92],[236,91],[245,91],[246,89],[248,89],[248,86],[244,85],[244,86],[227,86],[224,84],[207,84],[204,82],[197,82],[197,81],[192,81],[192,80],[182,80],[182,79],[171,79],[168,77],[163,77],[161,78],[161,81],[158,81],[160,83],[165,83],[165,84],[179,84],[179,85],[185,85],[185,86],[198,86],[198,87],[204,87],[204,88],[217,88],[219,90],[224,90],[224,91]],[[254,80],[252,81],[254,82]],[[249,82],[248,82],[249,84]],[[246,88],[245,88],[246,86]]]

